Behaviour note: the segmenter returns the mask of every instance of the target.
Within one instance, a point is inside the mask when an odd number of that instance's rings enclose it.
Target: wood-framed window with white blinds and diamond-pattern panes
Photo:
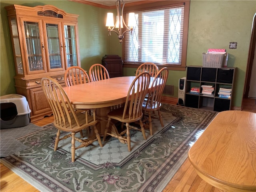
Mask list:
[[[132,33],[125,33],[124,63],[153,62],[170,69],[185,70],[189,10],[186,4],[189,2],[165,1],[164,6],[152,4],[140,10],[130,8],[126,11],[126,14],[135,12],[136,26]]]

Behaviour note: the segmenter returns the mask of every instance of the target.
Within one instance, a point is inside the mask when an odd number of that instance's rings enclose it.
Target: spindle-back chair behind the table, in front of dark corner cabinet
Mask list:
[[[102,64],[93,64],[89,69],[90,81],[109,79],[108,70]]]

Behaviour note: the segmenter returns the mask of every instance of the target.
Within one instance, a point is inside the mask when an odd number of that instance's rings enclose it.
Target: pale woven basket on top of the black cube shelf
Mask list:
[[[225,54],[203,54],[203,67],[222,68],[226,59]]]

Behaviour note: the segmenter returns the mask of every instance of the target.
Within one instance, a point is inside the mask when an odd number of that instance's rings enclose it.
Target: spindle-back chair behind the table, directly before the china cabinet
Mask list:
[[[90,82],[90,78],[83,68],[72,66],[66,70],[64,74],[64,81],[66,86],[72,86]]]

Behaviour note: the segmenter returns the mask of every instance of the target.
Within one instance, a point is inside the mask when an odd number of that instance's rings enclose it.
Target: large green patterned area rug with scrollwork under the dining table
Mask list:
[[[19,138],[28,146],[1,162],[43,192],[160,192],[187,158],[190,144],[216,112],[163,104],[164,128],[153,118],[154,135],[132,132],[132,151],[116,139],[93,143],[70,161],[70,142],[53,151],[56,128]],[[143,140],[143,143],[139,143]],[[137,144],[137,142],[139,144]]]

